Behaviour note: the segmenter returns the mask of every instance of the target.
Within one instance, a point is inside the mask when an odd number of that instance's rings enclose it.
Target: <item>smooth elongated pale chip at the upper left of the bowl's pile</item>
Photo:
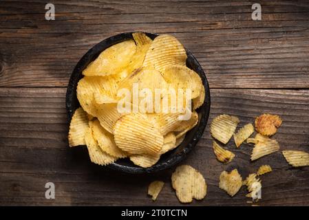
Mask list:
[[[129,65],[135,53],[136,44],[133,40],[117,43],[101,52],[98,58],[83,70],[83,75],[109,76],[117,74]]]

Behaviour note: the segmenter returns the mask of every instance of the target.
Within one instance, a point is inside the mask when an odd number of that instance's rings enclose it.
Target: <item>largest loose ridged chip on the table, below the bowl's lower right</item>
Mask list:
[[[171,176],[171,184],[180,202],[190,203],[192,199],[204,199],[207,185],[202,174],[189,165],[178,166]]]

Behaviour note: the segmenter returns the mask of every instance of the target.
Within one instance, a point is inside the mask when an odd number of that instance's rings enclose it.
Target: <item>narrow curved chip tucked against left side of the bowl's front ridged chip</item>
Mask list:
[[[114,136],[103,129],[98,120],[89,122],[89,126],[92,128],[94,139],[98,142],[98,146],[100,146],[102,151],[117,158],[124,158],[127,156],[127,153],[121,151],[120,148],[116,146]]]

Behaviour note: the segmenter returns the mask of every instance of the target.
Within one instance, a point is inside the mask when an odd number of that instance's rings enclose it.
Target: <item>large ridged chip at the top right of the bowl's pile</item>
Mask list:
[[[162,34],[151,43],[142,64],[151,66],[160,72],[170,65],[186,65],[187,53],[182,44],[174,36]]]

